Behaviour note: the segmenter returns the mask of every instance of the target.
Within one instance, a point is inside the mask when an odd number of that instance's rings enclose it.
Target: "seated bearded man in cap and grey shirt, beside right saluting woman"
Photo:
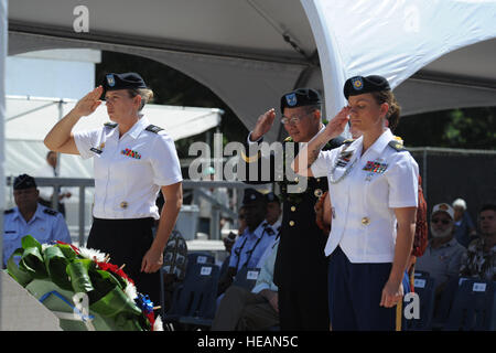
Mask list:
[[[429,272],[435,280],[439,293],[445,284],[459,276],[460,264],[465,248],[454,238],[454,211],[446,203],[432,208],[431,239],[425,253],[417,259],[416,269]]]

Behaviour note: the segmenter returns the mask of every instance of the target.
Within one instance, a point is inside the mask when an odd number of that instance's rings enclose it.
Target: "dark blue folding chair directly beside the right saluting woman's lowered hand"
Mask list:
[[[432,313],[434,311],[435,280],[431,277],[421,277],[420,274],[418,276],[416,272],[413,287],[414,292],[419,296],[420,318],[406,319],[403,317],[403,328],[406,331],[431,330]]]

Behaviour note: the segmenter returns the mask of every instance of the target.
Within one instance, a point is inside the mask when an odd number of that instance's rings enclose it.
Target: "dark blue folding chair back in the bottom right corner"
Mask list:
[[[493,306],[493,281],[466,279],[455,293],[444,330],[488,331],[494,320]]]

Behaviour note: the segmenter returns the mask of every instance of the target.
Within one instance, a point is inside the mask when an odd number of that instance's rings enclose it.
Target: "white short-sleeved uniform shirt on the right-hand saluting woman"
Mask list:
[[[312,164],[316,178],[328,178],[333,204],[326,256],[339,245],[351,263],[392,263],[397,234],[393,208],[417,207],[419,175],[408,151],[388,146],[392,140],[387,129],[360,156],[360,137],[351,145],[321,151]]]

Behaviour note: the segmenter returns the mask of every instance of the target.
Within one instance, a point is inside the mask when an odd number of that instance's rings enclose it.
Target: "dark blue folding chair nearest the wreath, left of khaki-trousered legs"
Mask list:
[[[195,264],[172,298],[164,322],[209,327],[215,315],[219,267]]]

